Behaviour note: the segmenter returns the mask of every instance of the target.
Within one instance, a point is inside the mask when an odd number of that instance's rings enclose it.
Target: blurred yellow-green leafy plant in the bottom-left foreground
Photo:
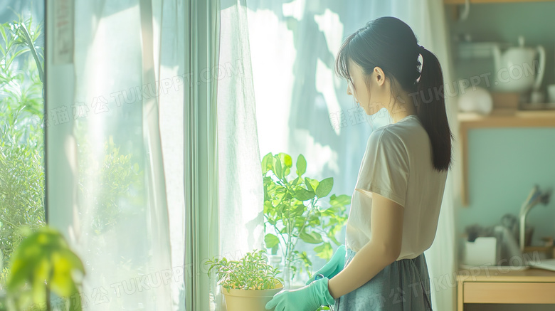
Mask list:
[[[83,275],[83,263],[61,233],[43,226],[27,236],[11,257],[6,283],[8,303],[13,303],[16,310],[42,309],[45,305],[50,311],[53,292],[68,298],[69,310],[82,310],[78,285]]]

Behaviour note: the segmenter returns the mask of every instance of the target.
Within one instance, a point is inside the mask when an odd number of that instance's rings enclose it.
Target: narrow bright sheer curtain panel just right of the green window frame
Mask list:
[[[245,0],[221,0],[218,68],[219,254],[238,260],[263,246],[263,186]],[[213,242],[213,241],[211,241]],[[225,310],[211,277],[211,310]]]

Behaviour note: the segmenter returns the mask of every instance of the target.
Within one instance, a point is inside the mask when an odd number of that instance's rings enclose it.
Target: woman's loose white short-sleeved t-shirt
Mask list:
[[[345,245],[358,252],[371,237],[372,192],[404,208],[403,242],[397,260],[430,248],[438,228],[447,172],[433,169],[431,143],[416,115],[371,133],[351,197]],[[369,191],[369,192],[368,192]]]

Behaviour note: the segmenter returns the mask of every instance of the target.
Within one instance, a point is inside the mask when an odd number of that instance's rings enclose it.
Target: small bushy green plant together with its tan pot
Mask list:
[[[260,311],[272,297],[283,289],[283,279],[277,278],[277,268],[268,264],[265,250],[247,253],[240,260],[207,260],[208,276],[216,270],[218,284],[228,311]]]

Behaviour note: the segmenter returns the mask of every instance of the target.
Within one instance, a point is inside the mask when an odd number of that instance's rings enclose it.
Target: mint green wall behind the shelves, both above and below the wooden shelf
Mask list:
[[[527,46],[546,49],[542,90],[555,83],[555,1],[508,4],[474,4],[466,21],[450,20],[448,26],[455,51],[455,37],[470,33],[472,41],[517,44],[522,35]],[[456,78],[493,71],[492,59],[455,61]],[[482,85],[485,86],[485,85]],[[555,123],[555,122],[554,122]],[[469,132],[469,198],[467,207],[456,210],[458,233],[465,226],[492,226],[506,213],[518,214],[534,184],[555,187],[554,128],[477,129]],[[555,237],[555,199],[548,206],[535,206],[529,223],[535,226],[533,243],[541,236]]]

